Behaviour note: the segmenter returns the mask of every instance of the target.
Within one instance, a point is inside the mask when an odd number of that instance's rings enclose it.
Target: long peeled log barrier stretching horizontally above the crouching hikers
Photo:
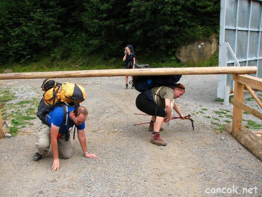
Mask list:
[[[195,67],[195,68],[148,68],[148,69],[110,69],[82,71],[54,71],[32,73],[0,74],[3,79],[43,79],[71,77],[110,77],[110,76],[141,76],[141,75],[208,75],[208,74],[254,74],[255,66],[245,67]]]

